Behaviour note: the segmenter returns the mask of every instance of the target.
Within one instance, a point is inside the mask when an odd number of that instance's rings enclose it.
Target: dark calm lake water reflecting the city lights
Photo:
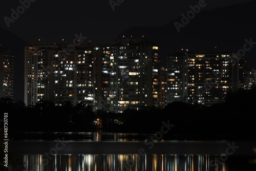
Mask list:
[[[99,132],[13,136],[9,147],[28,171],[256,170],[254,141],[149,140],[155,135]]]

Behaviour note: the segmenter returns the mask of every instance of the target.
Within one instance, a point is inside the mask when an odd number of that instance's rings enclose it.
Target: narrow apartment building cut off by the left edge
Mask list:
[[[14,91],[14,55],[8,49],[0,48],[0,98],[13,99]]]

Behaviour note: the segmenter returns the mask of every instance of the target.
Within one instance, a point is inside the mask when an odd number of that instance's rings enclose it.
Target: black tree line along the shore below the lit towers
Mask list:
[[[212,106],[173,102],[165,109],[155,106],[127,109],[123,113],[94,112],[89,105],[55,106],[39,101],[33,108],[22,101],[1,98],[2,112],[8,112],[10,132],[129,132],[156,133],[162,122],[174,124],[165,137],[253,137],[256,90],[239,90],[223,103]]]

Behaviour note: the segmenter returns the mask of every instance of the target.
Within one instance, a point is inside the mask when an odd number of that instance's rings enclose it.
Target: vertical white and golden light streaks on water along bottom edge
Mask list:
[[[227,164],[209,155],[24,155],[28,171],[226,171]]]

